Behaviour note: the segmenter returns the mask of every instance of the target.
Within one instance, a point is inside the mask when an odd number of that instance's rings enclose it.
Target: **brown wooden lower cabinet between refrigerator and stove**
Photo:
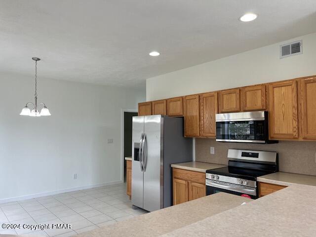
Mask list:
[[[172,169],[173,205],[206,196],[205,173]]]

